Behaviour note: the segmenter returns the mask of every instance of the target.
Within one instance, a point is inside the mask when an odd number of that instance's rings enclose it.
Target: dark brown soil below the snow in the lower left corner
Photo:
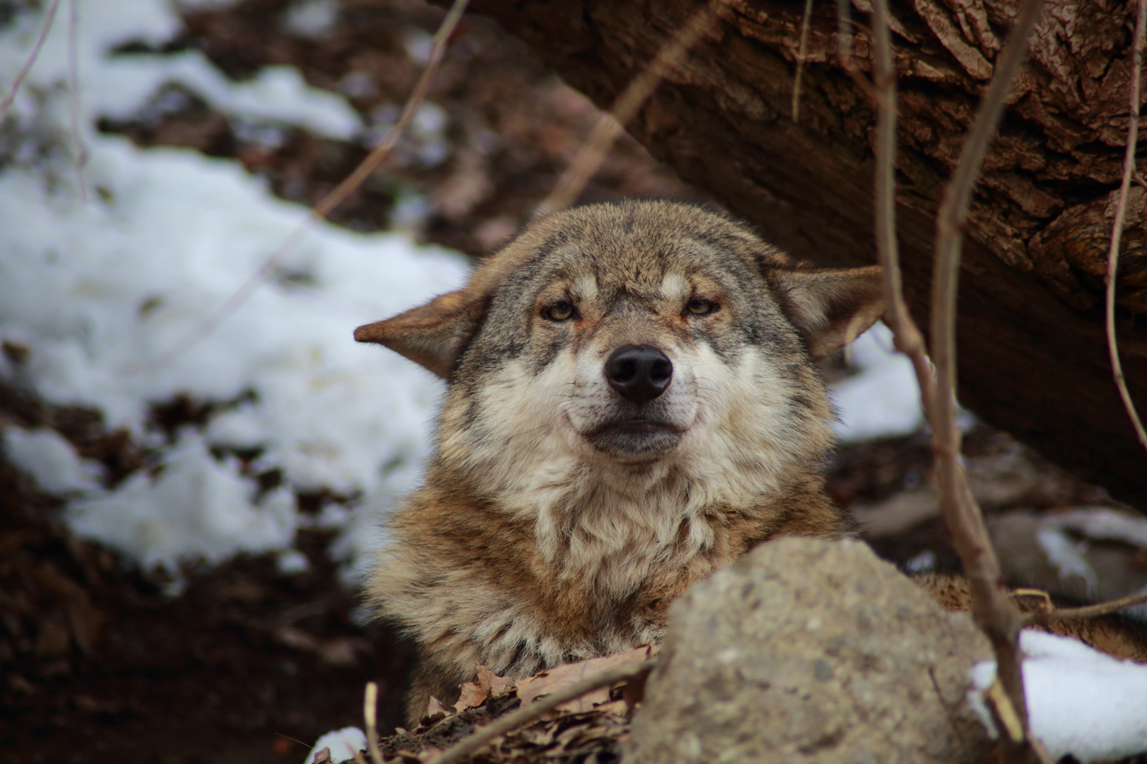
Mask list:
[[[409,651],[352,622],[327,539],[299,538],[306,573],[239,558],[169,597],[57,512],[0,463],[0,761],[302,761],[369,679],[398,718]]]

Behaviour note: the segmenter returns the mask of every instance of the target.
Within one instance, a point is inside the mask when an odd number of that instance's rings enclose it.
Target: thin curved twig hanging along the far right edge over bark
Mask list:
[[[1119,198],[1115,204],[1115,220],[1111,221],[1111,246],[1107,251],[1107,352],[1111,356],[1111,375],[1115,386],[1119,388],[1123,407],[1131,417],[1131,424],[1139,435],[1139,442],[1147,448],[1147,431],[1136,411],[1136,404],[1123,378],[1123,364],[1119,362],[1119,347],[1115,338],[1115,276],[1119,265],[1119,239],[1123,237],[1123,223],[1128,215],[1128,192],[1131,190],[1131,176],[1136,170],[1136,144],[1139,141],[1139,97],[1140,74],[1144,63],[1144,27],[1147,26],[1147,0],[1139,0],[1139,18],[1136,21],[1136,38],[1131,52],[1131,87],[1130,120],[1128,123],[1128,148],[1123,155],[1123,181],[1119,183]]]

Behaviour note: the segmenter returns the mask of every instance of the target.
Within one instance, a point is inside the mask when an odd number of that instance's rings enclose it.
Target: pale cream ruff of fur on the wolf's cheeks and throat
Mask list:
[[[712,388],[684,442],[662,458],[619,463],[582,441],[569,413],[582,403],[576,392],[557,400],[522,393],[562,389],[560,380],[574,375],[569,359],[537,376],[512,364],[481,391],[452,394],[439,464],[529,523],[554,575],[584,576],[603,594],[627,596],[651,566],[680,566],[709,550],[716,512],[759,514],[795,463],[821,459],[829,443],[827,410],[801,412],[805,426],[793,432],[794,415],[775,410],[798,404],[748,389],[770,371],[751,348],[735,365],[705,360]],[[689,367],[678,367],[674,384],[689,384]],[[474,397],[481,405],[470,425],[447,426],[467,416]]]

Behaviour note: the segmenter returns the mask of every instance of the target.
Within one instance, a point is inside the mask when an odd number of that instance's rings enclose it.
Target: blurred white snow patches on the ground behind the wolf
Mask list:
[[[328,10],[301,3],[288,21],[319,33]],[[41,23],[41,13],[26,10],[0,30],[0,90]],[[0,378],[55,403],[99,409],[158,460],[108,491],[97,486],[99,466],[57,435],[9,427],[3,448],[45,490],[70,497],[78,534],[147,566],[282,550],[281,567],[298,569],[289,548],[304,522],[342,529],[333,552],[360,565],[379,541],[379,514],[418,476],[442,386],[392,353],[357,345],[351,331],[453,289],[465,263],[404,235],[319,225],[217,331],[188,344],[305,210],[275,199],[235,163],[141,150],[97,133],[95,120],[155,108],[156,94],[178,82],[268,128],[289,123],[361,140],[377,126],[362,129],[342,96],[306,86],[294,69],[267,68],[235,84],[195,50],[111,54],[130,41],[159,45],[179,24],[164,0],[81,1],[72,101],[61,10],[0,131],[0,157],[8,155],[0,165],[0,340],[31,352],[18,364],[0,356]],[[440,134],[435,109],[427,104],[415,132]],[[84,188],[77,144],[87,153]],[[881,345],[883,340],[861,337],[863,373],[835,387],[846,439],[919,426],[906,362]],[[181,352],[157,363],[172,348]],[[148,407],[177,394],[225,405],[202,432],[166,443],[147,428]],[[303,518],[286,488],[260,496],[228,449],[258,449],[252,472],[280,468],[291,488],[326,487],[361,502]]]

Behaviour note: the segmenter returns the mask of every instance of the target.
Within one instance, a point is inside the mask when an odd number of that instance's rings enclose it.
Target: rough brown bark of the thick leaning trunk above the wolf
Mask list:
[[[791,118],[803,3],[728,0],[721,24],[629,131],[794,254],[875,261],[867,96],[841,65],[835,3],[813,8]],[[475,0],[608,107],[696,0]],[[913,314],[928,321],[936,208],[1017,0],[894,5],[900,77],[899,236]],[[853,52],[869,71],[867,0]],[[1133,3],[1050,0],[1032,63],[988,157],[961,275],[960,400],[1147,511],[1147,452],[1111,380],[1102,284],[1128,126]],[[1118,278],[1121,347],[1147,409],[1147,190],[1132,189]]]

